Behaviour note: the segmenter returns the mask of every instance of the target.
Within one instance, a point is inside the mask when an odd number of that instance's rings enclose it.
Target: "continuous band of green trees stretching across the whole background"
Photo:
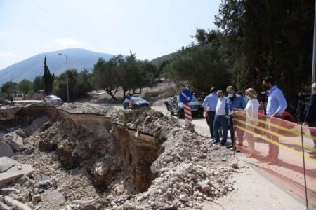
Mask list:
[[[302,1],[222,1],[216,15],[216,30],[197,29],[195,42],[178,52],[149,62],[117,55],[100,58],[93,69],[69,69],[51,75],[46,59],[44,75],[34,81],[4,83],[1,92],[32,95],[44,90],[67,99],[67,74],[70,100],[84,97],[91,90],[103,89],[112,99],[117,92],[140,94],[152,87],[156,78],[169,78],[178,88],[188,87],[204,97],[215,86],[225,90],[254,87],[261,91],[261,79],[273,76],[291,103],[306,85],[312,69],[314,3]]]

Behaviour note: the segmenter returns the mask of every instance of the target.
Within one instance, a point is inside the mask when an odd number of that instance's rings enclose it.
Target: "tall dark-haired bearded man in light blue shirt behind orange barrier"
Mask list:
[[[267,76],[263,78],[263,88],[265,90],[268,90],[269,96],[268,96],[268,102],[267,102],[267,108],[266,108],[266,114],[269,117],[275,117],[275,118],[281,118],[282,113],[287,108],[287,101],[285,100],[285,97],[282,93],[282,90],[279,90],[277,86],[275,85],[275,81],[272,77]],[[268,118],[268,121],[271,123],[269,125],[269,130],[272,132],[279,132],[279,130],[273,126],[274,123],[272,123],[273,119]],[[279,137],[276,137],[272,134],[267,134],[267,137],[270,137],[272,141],[278,142]],[[277,144],[269,144],[269,154],[267,158],[269,158],[270,165],[273,165],[277,163],[277,157],[279,156],[279,146]]]

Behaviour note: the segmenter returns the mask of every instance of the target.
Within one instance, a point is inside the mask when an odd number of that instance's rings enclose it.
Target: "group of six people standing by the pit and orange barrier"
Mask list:
[[[267,119],[281,118],[282,113],[284,113],[287,108],[287,101],[276,85],[275,81],[271,77],[263,78],[263,88],[268,91],[268,101],[266,104],[265,114],[268,116]],[[254,150],[254,140],[251,132],[243,132],[242,130],[234,130],[234,109],[243,110],[242,113],[246,116],[246,125],[259,125],[258,120],[253,120],[257,118],[259,102],[258,94],[253,88],[249,88],[244,92],[244,96],[236,94],[235,87],[228,86],[226,92],[228,94],[225,97],[223,90],[217,90],[212,87],[210,94],[204,99],[203,106],[204,110],[207,112],[207,120],[209,124],[209,129],[211,133],[211,139],[213,143],[221,144],[227,148],[235,148],[235,132],[237,133],[237,138],[239,143],[242,139],[248,141],[250,148],[249,156],[253,156],[256,151]],[[246,98],[246,99],[245,99]],[[305,118],[305,125],[309,127],[316,127],[316,83],[312,85],[312,96],[310,97],[310,102],[308,104],[308,111]],[[228,139],[228,126],[230,129],[231,144],[227,145]],[[235,125],[236,126],[236,125]],[[220,139],[218,130],[220,127],[223,130],[223,138]],[[254,126],[244,126],[245,130],[254,131]],[[268,130],[272,132],[275,131],[275,127],[267,127]],[[275,135],[270,135],[269,137],[272,141],[278,141],[278,137]],[[315,144],[316,147],[316,144]],[[235,148],[236,149],[236,148]],[[269,162],[275,163],[279,154],[279,146],[277,144],[269,144]]]

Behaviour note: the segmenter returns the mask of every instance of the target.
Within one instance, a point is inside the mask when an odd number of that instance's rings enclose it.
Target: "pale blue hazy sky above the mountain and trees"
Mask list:
[[[154,59],[216,29],[220,0],[0,0],[0,69],[42,52],[84,48]]]

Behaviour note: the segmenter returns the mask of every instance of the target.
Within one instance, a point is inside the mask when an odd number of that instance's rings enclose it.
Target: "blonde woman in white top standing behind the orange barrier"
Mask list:
[[[246,108],[244,111],[246,111],[247,116],[247,125],[246,130],[249,130],[251,132],[254,131],[254,127],[251,125],[258,125],[258,109],[259,109],[259,102],[258,102],[258,94],[256,93],[256,90],[249,88],[245,91],[246,98],[249,100]],[[246,141],[248,142],[250,153],[247,155],[247,157],[253,157],[256,153],[254,149],[254,136],[250,134],[249,132],[246,132],[245,134]]]

